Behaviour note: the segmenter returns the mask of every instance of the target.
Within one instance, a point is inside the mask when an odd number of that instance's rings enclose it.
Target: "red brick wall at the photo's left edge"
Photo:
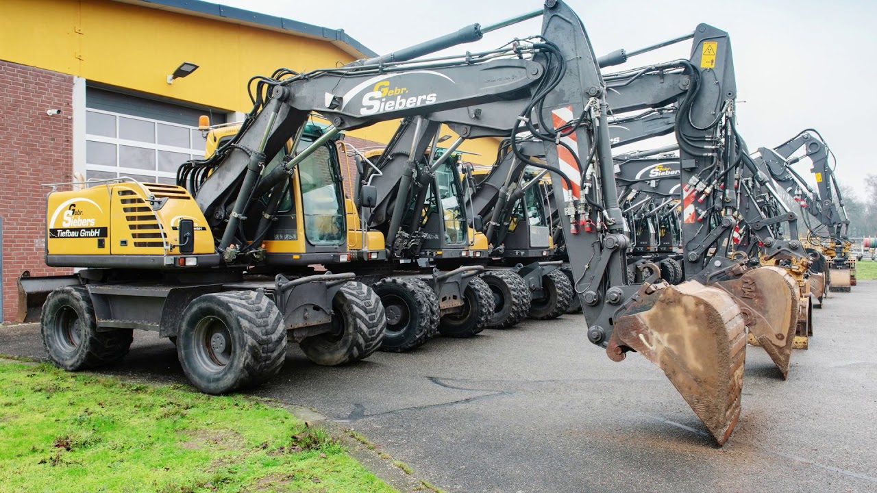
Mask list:
[[[46,110],[61,115],[46,115]],[[16,280],[68,274],[47,268],[43,183],[73,174],[73,77],[0,61],[0,217],[3,218],[4,321],[18,311]]]

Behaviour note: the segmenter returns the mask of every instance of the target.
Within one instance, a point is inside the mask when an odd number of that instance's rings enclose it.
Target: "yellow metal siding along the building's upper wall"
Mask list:
[[[251,110],[253,75],[353,61],[322,40],[109,0],[4,0],[2,10],[0,60],[227,111]],[[183,61],[199,68],[168,84]],[[385,122],[351,135],[385,143],[395,130]],[[466,161],[490,164],[496,139],[460,150],[481,154]]]

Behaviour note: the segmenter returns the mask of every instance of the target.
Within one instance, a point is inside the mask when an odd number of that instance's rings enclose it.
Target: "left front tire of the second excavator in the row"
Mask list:
[[[387,314],[381,351],[405,353],[420,347],[439,327],[439,297],[414,277],[388,277],[372,289]]]

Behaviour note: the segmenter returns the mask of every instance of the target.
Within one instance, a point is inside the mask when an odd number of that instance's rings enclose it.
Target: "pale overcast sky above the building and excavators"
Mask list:
[[[452,32],[488,25],[539,0],[214,0],[296,19],[347,34],[379,54]],[[863,196],[864,175],[877,174],[877,1],[818,0],[567,0],[588,30],[597,55],[628,51],[694,31],[699,23],[731,34],[738,85],[738,130],[751,150],[778,146],[816,128],[838,157],[841,182]],[[538,33],[533,19],[485,36],[456,52],[490,49]],[[622,68],[687,58],[690,42],[634,57]],[[296,67],[290,66],[295,69]],[[617,68],[616,68],[617,69]],[[640,145],[640,148],[648,147]],[[809,166],[800,163],[800,172]]]

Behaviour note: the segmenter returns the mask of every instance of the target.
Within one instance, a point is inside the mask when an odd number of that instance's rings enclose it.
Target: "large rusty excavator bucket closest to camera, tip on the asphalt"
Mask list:
[[[700,282],[682,282],[650,294],[617,319],[607,354],[624,359],[631,348],[664,370],[718,445],[740,417],[746,356],[745,323],[734,300]]]

